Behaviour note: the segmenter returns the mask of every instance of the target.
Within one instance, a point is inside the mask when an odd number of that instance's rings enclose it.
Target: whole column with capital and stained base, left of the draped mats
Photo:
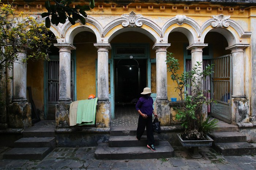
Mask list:
[[[76,47],[71,44],[54,44],[60,49],[60,70],[59,70],[59,101],[56,104],[56,127],[69,127],[69,105],[71,101],[71,50]]]

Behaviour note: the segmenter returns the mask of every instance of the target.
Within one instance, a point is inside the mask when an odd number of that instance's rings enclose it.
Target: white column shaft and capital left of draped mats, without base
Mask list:
[[[59,101],[71,101],[71,50],[76,49],[71,44],[54,44],[60,49],[60,72],[59,72]]]

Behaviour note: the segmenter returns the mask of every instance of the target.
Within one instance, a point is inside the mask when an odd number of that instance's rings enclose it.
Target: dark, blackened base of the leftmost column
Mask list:
[[[31,104],[14,102],[8,105],[9,128],[31,127]]]

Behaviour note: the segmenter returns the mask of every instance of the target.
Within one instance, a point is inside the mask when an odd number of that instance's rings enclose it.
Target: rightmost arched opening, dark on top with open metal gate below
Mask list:
[[[212,105],[211,115],[231,123],[231,55],[225,48],[229,46],[225,36],[219,32],[208,32],[204,43],[211,49],[211,63],[214,64],[211,76],[211,97],[217,101]]]

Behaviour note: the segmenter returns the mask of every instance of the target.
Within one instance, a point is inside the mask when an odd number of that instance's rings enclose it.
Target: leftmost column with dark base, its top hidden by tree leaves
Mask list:
[[[31,104],[27,102],[27,54],[18,54],[18,61],[13,69],[13,100],[8,105],[10,128],[31,127]]]

